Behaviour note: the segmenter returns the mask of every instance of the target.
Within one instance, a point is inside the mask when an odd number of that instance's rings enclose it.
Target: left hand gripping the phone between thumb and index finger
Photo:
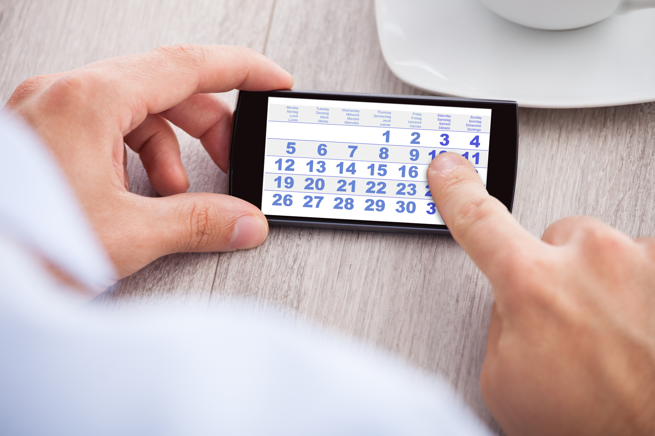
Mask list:
[[[168,122],[200,139],[227,171],[232,113],[211,93],[292,85],[289,73],[248,48],[164,46],[29,78],[7,107],[52,148],[124,277],[164,254],[263,243],[267,220],[250,203],[184,193],[189,179]],[[140,155],[153,188],[164,197],[128,191],[124,143]]]

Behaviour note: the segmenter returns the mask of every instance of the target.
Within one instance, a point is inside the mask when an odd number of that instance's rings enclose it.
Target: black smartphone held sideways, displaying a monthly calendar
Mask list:
[[[241,91],[229,193],[271,226],[449,235],[430,161],[464,156],[511,212],[517,146],[515,101]]]

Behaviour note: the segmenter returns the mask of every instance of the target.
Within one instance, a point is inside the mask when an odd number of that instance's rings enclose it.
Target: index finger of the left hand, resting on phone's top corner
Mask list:
[[[147,114],[170,109],[195,93],[233,89],[268,91],[293,86],[293,78],[271,59],[246,47],[179,44],[161,46],[141,54],[124,56],[79,69],[62,80],[94,78],[94,88],[105,92],[122,109],[130,110],[130,126]],[[85,87],[88,90],[88,84]],[[122,113],[121,115],[126,115]],[[127,133],[125,131],[124,133]]]

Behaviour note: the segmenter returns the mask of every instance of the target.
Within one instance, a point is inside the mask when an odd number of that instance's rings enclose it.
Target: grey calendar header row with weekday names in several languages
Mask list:
[[[459,108],[458,108],[459,109]],[[491,116],[357,107],[269,105],[269,121],[489,133]]]

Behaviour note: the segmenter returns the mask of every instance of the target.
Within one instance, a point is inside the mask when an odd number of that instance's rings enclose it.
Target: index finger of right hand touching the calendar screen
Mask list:
[[[442,153],[428,167],[434,203],[451,235],[491,282],[512,256],[542,247],[507,208],[492,197],[473,165],[455,153]]]

